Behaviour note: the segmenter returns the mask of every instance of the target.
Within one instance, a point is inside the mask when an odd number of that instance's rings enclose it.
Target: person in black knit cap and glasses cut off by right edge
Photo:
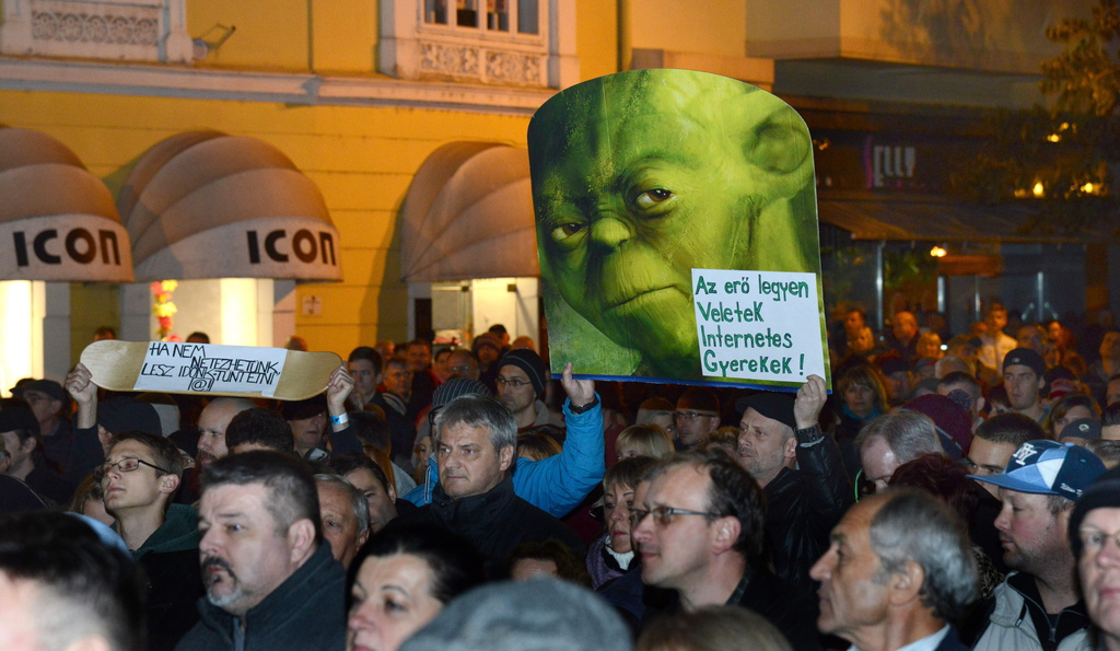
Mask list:
[[[1070,517],[1070,545],[1098,648],[1120,651],[1120,469],[1082,493]]]

